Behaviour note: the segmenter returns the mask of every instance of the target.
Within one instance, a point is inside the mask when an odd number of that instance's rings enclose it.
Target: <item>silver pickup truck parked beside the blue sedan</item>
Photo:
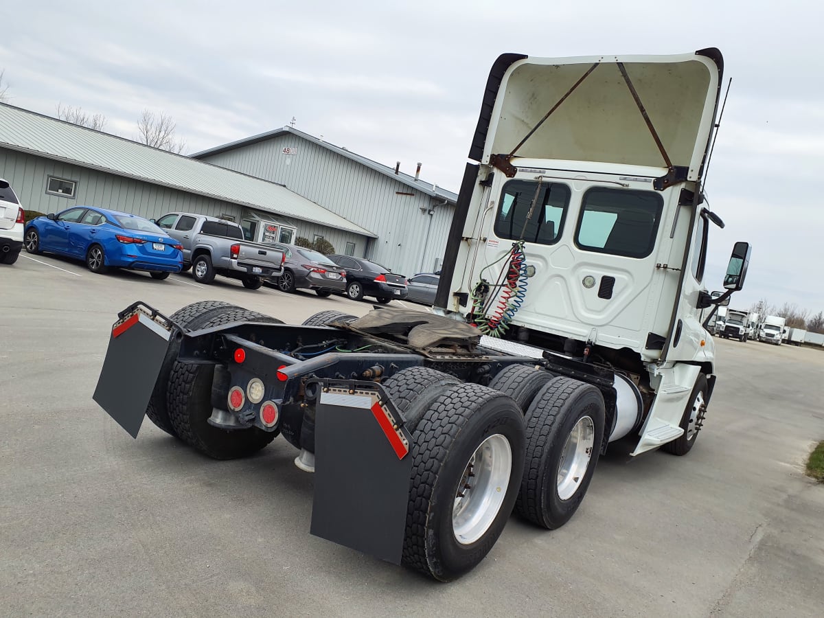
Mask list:
[[[183,246],[183,269],[194,280],[212,283],[216,274],[240,279],[256,290],[264,279],[283,273],[283,251],[243,239],[235,222],[194,213],[169,213],[155,222]]]

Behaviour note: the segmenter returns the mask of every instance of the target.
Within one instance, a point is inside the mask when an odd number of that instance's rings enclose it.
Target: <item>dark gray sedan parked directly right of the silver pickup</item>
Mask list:
[[[281,292],[294,292],[297,288],[315,290],[320,297],[346,289],[346,271],[317,251],[297,245],[276,244],[283,251],[286,262],[283,274],[269,279]]]

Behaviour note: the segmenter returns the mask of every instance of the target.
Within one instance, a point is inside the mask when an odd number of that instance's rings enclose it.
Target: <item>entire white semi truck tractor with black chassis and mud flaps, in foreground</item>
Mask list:
[[[203,301],[135,302],[95,400],[217,459],[277,436],[314,473],[310,531],[448,581],[514,512],[573,517],[598,457],[689,452],[715,383],[700,314],[714,225],[702,190],[718,49],[530,58],[489,74],[437,311],[322,311],[302,325]],[[709,320],[713,311],[709,311]],[[139,465],[139,462],[136,462]],[[271,534],[291,531],[274,527]]]

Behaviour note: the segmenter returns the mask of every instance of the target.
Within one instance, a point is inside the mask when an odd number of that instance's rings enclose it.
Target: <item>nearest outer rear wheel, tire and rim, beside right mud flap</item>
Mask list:
[[[443,393],[413,435],[403,564],[448,582],[480,563],[512,511],[523,452],[508,396],[477,384]]]

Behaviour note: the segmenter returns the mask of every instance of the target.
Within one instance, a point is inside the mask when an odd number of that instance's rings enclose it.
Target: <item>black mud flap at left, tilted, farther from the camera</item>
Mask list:
[[[112,326],[92,399],[132,438],[138,437],[170,336],[143,311],[133,311]]]

